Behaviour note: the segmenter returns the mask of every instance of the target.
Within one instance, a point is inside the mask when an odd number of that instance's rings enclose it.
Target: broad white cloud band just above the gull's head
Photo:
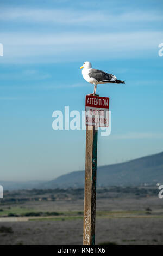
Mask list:
[[[125,33],[0,33],[1,62],[62,62],[157,55],[162,31]]]

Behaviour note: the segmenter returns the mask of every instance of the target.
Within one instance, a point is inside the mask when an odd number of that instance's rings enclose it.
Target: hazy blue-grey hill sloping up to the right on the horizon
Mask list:
[[[73,171],[41,184],[42,188],[84,187],[84,171]],[[163,152],[97,168],[97,187],[163,184]]]

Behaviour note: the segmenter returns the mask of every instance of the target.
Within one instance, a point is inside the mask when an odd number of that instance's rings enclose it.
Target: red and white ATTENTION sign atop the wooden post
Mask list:
[[[109,98],[86,95],[86,126],[109,126]]]

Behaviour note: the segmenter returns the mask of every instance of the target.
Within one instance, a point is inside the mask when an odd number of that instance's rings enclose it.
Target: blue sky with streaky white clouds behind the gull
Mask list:
[[[0,0],[0,181],[84,170],[85,130],[53,130],[52,114],[85,109],[93,93],[79,69],[85,61],[126,82],[97,86],[111,111],[110,136],[98,134],[98,166],[163,151],[162,7],[162,0]]]

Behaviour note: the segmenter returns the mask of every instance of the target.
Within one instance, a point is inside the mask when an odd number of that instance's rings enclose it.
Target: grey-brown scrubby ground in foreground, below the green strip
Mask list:
[[[83,221],[5,222],[1,245],[82,245]],[[96,245],[163,245],[162,219],[97,219]]]

